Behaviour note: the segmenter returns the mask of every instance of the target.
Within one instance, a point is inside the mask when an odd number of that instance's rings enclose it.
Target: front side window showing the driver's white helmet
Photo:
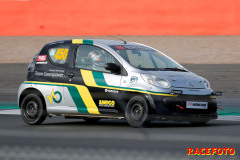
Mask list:
[[[105,69],[106,63],[116,63],[116,59],[107,51],[91,45],[79,45],[77,48],[75,67],[110,72]]]

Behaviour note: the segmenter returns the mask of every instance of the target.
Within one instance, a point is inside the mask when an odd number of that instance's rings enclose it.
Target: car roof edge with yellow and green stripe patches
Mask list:
[[[67,43],[75,43],[75,44],[91,44],[91,43],[100,43],[103,45],[136,45],[134,42],[120,41],[120,40],[107,40],[107,39],[68,39],[68,40],[59,40],[50,42],[46,45],[52,44],[67,44]]]

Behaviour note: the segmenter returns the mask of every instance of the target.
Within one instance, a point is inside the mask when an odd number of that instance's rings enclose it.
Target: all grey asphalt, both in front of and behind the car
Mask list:
[[[223,91],[220,105],[239,110],[240,65],[184,66],[207,78],[214,90]],[[0,102],[16,102],[26,67],[0,64]],[[124,120],[88,124],[80,119],[52,117],[42,125],[29,126],[19,115],[0,115],[0,160],[239,159],[238,120],[213,120],[206,126],[153,122],[148,128],[133,128]],[[236,153],[188,156],[187,148],[234,148]]]

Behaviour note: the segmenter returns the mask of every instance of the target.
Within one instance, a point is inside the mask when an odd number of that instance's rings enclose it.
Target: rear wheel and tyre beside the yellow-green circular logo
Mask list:
[[[41,124],[47,117],[45,105],[36,94],[27,95],[21,103],[21,116],[30,125]]]

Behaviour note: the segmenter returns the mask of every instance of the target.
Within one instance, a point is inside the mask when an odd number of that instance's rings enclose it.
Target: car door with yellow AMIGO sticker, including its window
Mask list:
[[[106,114],[118,112],[118,93],[121,74],[113,74],[105,69],[106,63],[120,63],[106,50],[80,44],[76,47],[73,67],[67,68],[66,83],[72,102],[79,113]]]

